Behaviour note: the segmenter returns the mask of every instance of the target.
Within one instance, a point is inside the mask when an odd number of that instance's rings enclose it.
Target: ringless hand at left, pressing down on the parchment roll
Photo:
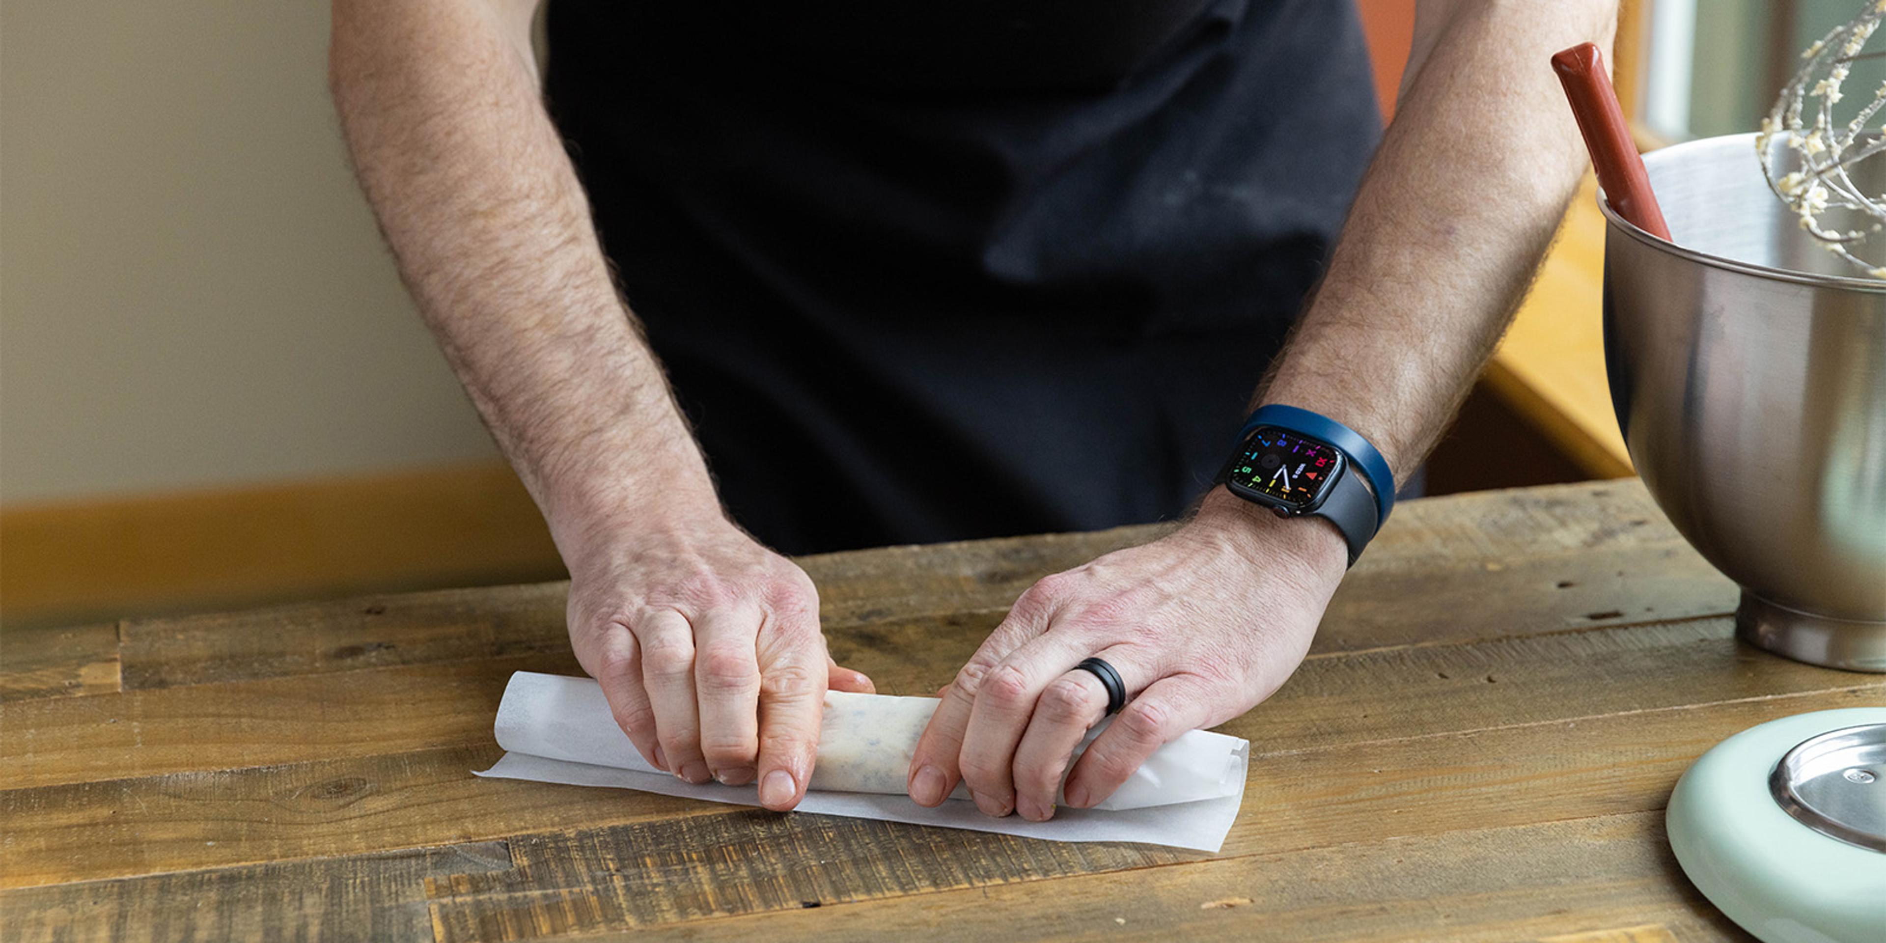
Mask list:
[[[720,517],[585,543],[570,643],[641,756],[688,783],[758,779],[762,805],[798,805],[828,683],[873,690],[826,654],[811,577]]]

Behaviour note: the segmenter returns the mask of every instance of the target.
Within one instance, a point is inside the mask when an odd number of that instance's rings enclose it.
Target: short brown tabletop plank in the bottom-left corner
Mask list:
[[[426,881],[509,869],[504,841],[0,892],[9,941],[432,939]]]

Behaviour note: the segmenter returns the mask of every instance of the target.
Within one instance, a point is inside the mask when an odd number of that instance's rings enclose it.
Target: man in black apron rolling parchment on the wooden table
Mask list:
[[[1035,820],[1109,707],[1069,805],[1303,658],[1584,166],[1547,58],[1614,23],[1422,2],[1377,149],[1339,0],[556,0],[549,109],[534,8],[336,0],[334,94],[570,566],[577,658],[653,764],[790,809],[826,687],[869,690],[762,541],[1094,528],[1205,492],[1171,536],[1024,592],[947,688],[911,796],[962,781]],[[1364,475],[1364,524],[1211,487],[1267,362],[1258,405],[1360,434],[1352,472],[1392,466]]]

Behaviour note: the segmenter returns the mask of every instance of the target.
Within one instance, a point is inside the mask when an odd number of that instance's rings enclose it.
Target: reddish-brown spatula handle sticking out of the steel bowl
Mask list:
[[[1650,175],[1637,157],[1631,126],[1618,108],[1618,92],[1611,87],[1611,75],[1605,75],[1605,57],[1597,45],[1579,43],[1554,55],[1552,70],[1565,85],[1565,98],[1571,100],[1571,113],[1579,119],[1584,149],[1592,153],[1605,200],[1633,226],[1669,240],[1669,224],[1663,223],[1663,211],[1650,192]]]

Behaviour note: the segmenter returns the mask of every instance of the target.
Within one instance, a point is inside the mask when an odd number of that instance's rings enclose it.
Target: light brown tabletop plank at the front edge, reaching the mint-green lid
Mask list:
[[[1660,813],[1375,839],[664,926],[668,939],[1509,941],[1658,922],[1750,939],[1682,879]],[[449,902],[460,905],[462,902]],[[524,939],[434,903],[441,943]],[[643,939],[643,930],[590,939]],[[539,937],[541,939],[541,937]]]

